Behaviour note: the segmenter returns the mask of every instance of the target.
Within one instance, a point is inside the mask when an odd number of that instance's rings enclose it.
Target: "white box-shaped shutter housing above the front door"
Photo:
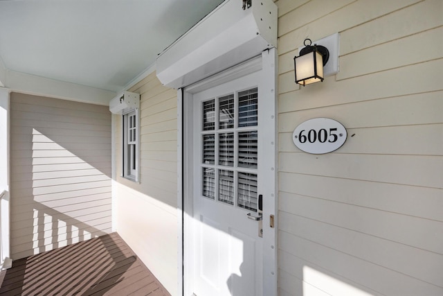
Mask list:
[[[226,0],[159,55],[163,85],[180,88],[277,46],[277,6],[271,0]]]

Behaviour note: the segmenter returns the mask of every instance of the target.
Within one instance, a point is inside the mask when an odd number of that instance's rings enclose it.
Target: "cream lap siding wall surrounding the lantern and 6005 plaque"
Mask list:
[[[443,295],[442,1],[276,3],[280,295]],[[298,87],[298,47],[336,32],[338,74]],[[294,146],[316,117],[347,128],[334,153]]]

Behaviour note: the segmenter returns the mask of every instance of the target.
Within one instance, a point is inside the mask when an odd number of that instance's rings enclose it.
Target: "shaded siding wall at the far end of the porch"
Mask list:
[[[11,94],[12,259],[111,232],[105,106]]]

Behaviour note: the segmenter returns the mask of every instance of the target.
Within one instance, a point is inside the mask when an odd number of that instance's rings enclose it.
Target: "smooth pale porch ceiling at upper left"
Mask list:
[[[221,2],[0,1],[3,80],[15,71],[119,92]]]

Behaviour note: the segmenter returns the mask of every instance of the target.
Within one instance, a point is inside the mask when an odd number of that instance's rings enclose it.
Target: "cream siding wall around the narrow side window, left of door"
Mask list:
[[[117,231],[172,295],[177,291],[177,91],[151,73],[141,94],[140,182],[122,172],[122,116],[116,116]]]

